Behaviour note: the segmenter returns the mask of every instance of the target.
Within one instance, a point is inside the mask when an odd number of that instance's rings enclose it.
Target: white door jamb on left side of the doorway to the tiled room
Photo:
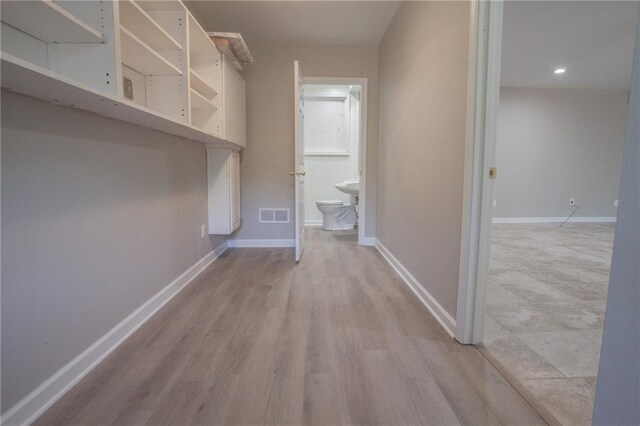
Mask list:
[[[495,165],[503,0],[472,0],[456,339],[484,339]]]

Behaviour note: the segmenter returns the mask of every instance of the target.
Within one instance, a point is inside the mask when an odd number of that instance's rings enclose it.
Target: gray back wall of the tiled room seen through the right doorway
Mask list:
[[[626,90],[502,88],[494,217],[613,217]]]

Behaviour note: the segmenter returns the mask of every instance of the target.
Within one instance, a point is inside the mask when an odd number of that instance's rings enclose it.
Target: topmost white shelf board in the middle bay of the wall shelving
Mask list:
[[[180,50],[182,46],[134,0],[120,1],[120,23],[156,50]]]

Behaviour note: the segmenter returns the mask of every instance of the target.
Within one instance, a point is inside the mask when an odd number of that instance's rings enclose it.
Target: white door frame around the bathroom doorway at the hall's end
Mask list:
[[[360,99],[360,140],[358,141],[358,168],[360,169],[360,195],[358,209],[358,244],[373,245],[365,237],[367,212],[367,102],[369,99],[368,78],[366,77],[307,77],[303,76],[303,84],[351,84],[362,87]],[[304,141],[303,141],[304,144]]]

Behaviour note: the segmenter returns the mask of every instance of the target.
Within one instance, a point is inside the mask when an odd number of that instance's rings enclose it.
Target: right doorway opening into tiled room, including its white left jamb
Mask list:
[[[637,119],[638,5],[502,6],[478,9],[488,53],[479,48],[475,64],[457,338],[480,344],[548,422],[586,424],[626,128]]]

